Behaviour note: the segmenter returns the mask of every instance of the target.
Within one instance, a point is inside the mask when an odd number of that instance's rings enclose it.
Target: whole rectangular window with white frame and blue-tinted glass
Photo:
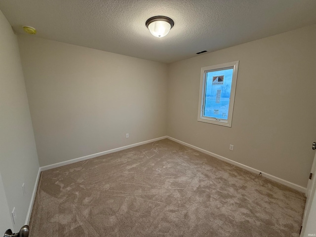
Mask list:
[[[198,121],[232,126],[238,62],[201,68]]]

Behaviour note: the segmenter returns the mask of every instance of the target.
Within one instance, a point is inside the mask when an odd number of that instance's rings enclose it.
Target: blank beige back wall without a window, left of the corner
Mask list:
[[[166,135],[165,64],[18,40],[40,166]]]

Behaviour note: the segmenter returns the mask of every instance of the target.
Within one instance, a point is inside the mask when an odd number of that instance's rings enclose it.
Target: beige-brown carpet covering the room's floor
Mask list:
[[[302,193],[164,139],[41,172],[31,237],[299,237]]]

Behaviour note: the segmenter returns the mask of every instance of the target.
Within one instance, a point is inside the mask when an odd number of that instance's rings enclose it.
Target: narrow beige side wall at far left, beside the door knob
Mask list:
[[[17,221],[13,227],[19,231],[25,224],[39,160],[17,38],[1,11],[0,29],[0,174],[8,209],[16,210]],[[6,211],[0,213],[1,219],[7,214],[3,218],[11,218]]]

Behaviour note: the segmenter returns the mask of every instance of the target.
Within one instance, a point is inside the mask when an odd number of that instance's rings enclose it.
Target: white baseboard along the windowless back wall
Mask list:
[[[147,141],[144,141],[144,142],[134,143],[134,144],[127,145],[127,146],[124,146],[124,147],[118,147],[118,148],[115,148],[115,149],[112,149],[112,150],[95,153],[95,154],[88,155],[88,156],[85,156],[85,157],[79,157],[79,158],[70,159],[70,160],[62,161],[62,162],[55,163],[55,164],[49,164],[49,165],[40,167],[40,171],[44,171],[44,170],[47,170],[47,169],[53,169],[53,168],[56,168],[56,167],[60,167],[60,166],[66,165],[66,164],[76,163],[78,161],[82,161],[82,160],[86,160],[86,159],[100,157],[100,156],[107,155],[107,154],[114,153],[114,152],[119,152],[119,151],[122,151],[122,150],[125,150],[125,149],[128,149],[128,148],[137,147],[137,146],[144,145],[144,144],[147,144],[147,143],[159,141],[159,140],[162,140],[162,139],[165,139],[165,138],[167,138],[167,136],[158,137],[158,138],[147,140]]]

